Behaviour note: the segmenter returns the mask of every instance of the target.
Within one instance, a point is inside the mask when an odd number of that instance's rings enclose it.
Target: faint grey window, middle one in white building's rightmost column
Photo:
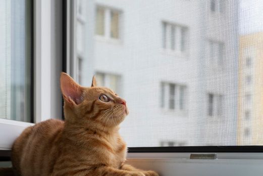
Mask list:
[[[209,59],[211,64],[223,66],[223,52],[224,44],[222,42],[212,41],[208,42]]]

